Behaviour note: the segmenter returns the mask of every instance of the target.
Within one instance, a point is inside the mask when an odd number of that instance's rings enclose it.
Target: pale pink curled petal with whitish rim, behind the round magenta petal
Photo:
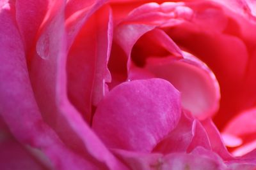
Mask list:
[[[173,83],[182,92],[182,106],[195,117],[211,117],[220,100],[218,81],[202,61],[189,53],[184,53],[184,58],[148,58],[145,69]]]

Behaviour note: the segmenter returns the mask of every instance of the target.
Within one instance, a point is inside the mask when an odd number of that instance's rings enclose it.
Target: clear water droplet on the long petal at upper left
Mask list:
[[[47,59],[49,56],[49,34],[43,34],[36,43],[36,52],[42,59]]]

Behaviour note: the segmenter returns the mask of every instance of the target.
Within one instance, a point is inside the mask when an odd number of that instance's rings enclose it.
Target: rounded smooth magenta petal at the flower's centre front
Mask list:
[[[176,127],[179,97],[166,80],[122,83],[99,103],[92,128],[109,148],[150,152]]]

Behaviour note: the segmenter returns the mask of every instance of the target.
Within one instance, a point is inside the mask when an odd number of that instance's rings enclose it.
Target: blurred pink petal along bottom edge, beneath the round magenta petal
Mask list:
[[[129,164],[131,169],[191,169],[191,170],[227,170],[223,160],[214,152],[196,148],[192,153],[170,153],[168,155],[147,154],[114,150],[115,155]],[[229,169],[228,169],[229,170]]]

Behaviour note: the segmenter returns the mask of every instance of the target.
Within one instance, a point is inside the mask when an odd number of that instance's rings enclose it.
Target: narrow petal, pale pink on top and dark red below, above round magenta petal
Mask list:
[[[116,26],[109,59],[109,70],[112,76],[109,86],[111,88],[127,80],[127,70],[131,64],[132,46],[143,34],[154,29],[154,27],[154,25],[140,24],[120,24]]]

